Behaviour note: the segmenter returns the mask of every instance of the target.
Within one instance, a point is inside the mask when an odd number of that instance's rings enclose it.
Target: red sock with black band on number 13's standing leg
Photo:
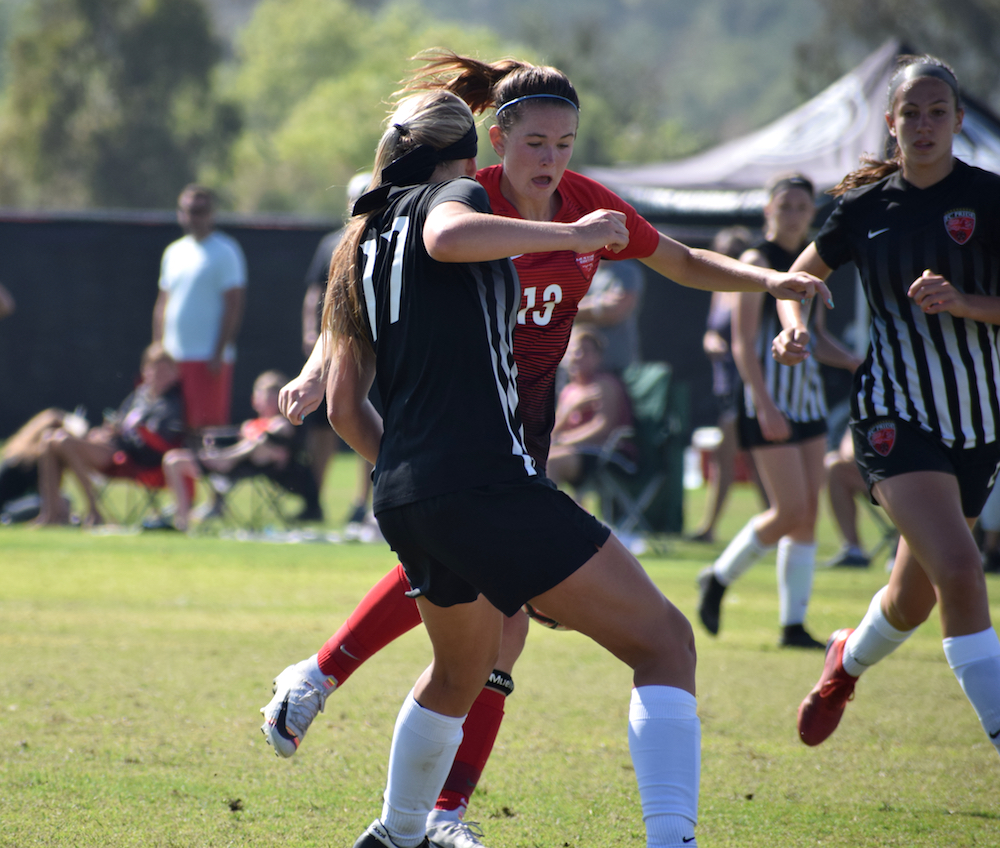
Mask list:
[[[498,677],[499,675],[499,677]],[[494,680],[498,683],[494,684]],[[495,688],[494,688],[495,687]],[[512,692],[514,684],[509,675],[494,671],[490,683],[479,693],[469,715],[465,719],[465,735],[455,754],[444,788],[438,796],[434,808],[437,810],[458,810],[463,812],[469,806],[469,798],[476,790],[476,784],[486,768],[493,743],[496,742],[500,723],[503,721],[504,702]]]

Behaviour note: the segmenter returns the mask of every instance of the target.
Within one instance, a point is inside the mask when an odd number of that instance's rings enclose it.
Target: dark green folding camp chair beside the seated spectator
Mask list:
[[[609,437],[588,485],[596,489],[601,514],[618,535],[680,533],[686,387],[674,382],[666,362],[631,365],[622,382],[632,404],[633,424]],[[635,461],[618,450],[626,438],[635,445]]]

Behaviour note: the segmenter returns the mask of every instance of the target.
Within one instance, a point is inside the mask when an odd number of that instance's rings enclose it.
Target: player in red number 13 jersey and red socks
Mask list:
[[[438,79],[440,74],[444,76]],[[561,71],[514,60],[488,64],[447,54],[417,76],[423,81],[420,84],[423,89],[447,87],[475,109],[495,109],[497,123],[490,128],[490,137],[494,150],[503,151],[503,162],[482,169],[477,178],[488,193],[493,211],[511,219],[512,232],[531,233],[538,223],[558,231],[575,226],[600,210],[608,214],[607,210],[613,209],[625,216],[628,245],[620,251],[560,248],[528,252],[510,247],[509,253],[497,254],[523,254],[514,260],[521,292],[513,355],[525,446],[538,469],[545,465],[554,420],[555,372],[565,353],[577,303],[586,293],[599,258],[606,254],[645,256],[651,267],[664,276],[704,288],[766,289],[775,296],[796,299],[816,293],[824,298],[829,296],[828,290],[809,275],[754,268],[706,251],[691,250],[659,233],[613,192],[570,171],[567,166],[578,128],[578,97]],[[437,313],[431,317],[436,320]],[[481,320],[476,326],[479,324]],[[417,326],[424,325],[437,326],[430,317]],[[462,325],[460,329],[468,327]],[[442,339],[452,332],[457,329],[442,329]],[[459,341],[464,339],[465,336],[459,337]],[[452,357],[456,356],[453,349]],[[442,367],[450,368],[452,361],[449,359]],[[299,377],[282,390],[283,412],[293,423],[299,423],[303,414],[322,402],[328,365],[323,350],[314,348]],[[327,401],[335,411],[340,406],[332,392],[327,393]],[[479,426],[478,421],[468,417],[456,419],[459,421],[462,427]],[[454,423],[449,422],[449,426]],[[456,441],[455,445],[459,443]],[[374,447],[377,449],[377,445]],[[447,472],[453,466],[454,463],[442,463],[435,470]],[[532,550],[525,554],[524,560],[533,562],[539,557],[544,560],[546,555],[541,549]],[[394,568],[362,599],[317,654],[289,666],[275,678],[274,697],[261,710],[264,715],[261,729],[277,753],[284,757],[294,755],[329,694],[375,652],[419,626],[420,613],[406,594],[409,591],[402,567]],[[509,672],[527,634],[528,619],[524,614],[515,613],[505,622],[496,674],[491,674],[480,700],[470,712],[455,767],[427,823],[431,841],[447,848],[482,845],[478,839],[481,833],[473,831],[473,823],[461,817],[492,749],[506,695],[513,688]],[[655,842],[663,834],[659,827],[651,828],[650,832],[653,831],[659,834],[651,836]]]

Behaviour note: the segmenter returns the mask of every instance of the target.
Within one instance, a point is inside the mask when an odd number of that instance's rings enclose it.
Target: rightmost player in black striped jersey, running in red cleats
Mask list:
[[[1000,749],[1000,641],[971,526],[1000,460],[1000,176],[954,158],[962,126],[952,70],[906,57],[889,86],[888,162],[869,158],[793,266],[826,277],[853,260],[872,320],[854,380],[855,456],[872,499],[902,540],[889,584],[856,629],[827,646],[799,707],[799,735],[836,729],[855,682],[940,604],[944,653]],[[801,311],[781,309],[775,357],[800,361]]]

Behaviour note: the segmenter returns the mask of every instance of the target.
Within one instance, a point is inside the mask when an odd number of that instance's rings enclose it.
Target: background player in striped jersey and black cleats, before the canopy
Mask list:
[[[816,215],[812,182],[788,174],[768,187],[764,238],[740,259],[787,271],[806,245]],[[709,633],[719,631],[726,589],[777,545],[778,644],[822,648],[805,629],[816,565],[816,516],[826,454],[826,395],[819,363],[853,371],[858,358],[826,332],[823,313],[814,315],[815,357],[797,365],[771,358],[771,339],[781,329],[776,301],[757,293],[732,295],[733,359],[743,379],[738,402],[740,445],[753,457],[767,492],[768,509],[753,516],[719,558],[698,576],[698,617]]]

